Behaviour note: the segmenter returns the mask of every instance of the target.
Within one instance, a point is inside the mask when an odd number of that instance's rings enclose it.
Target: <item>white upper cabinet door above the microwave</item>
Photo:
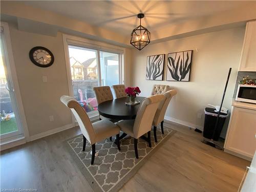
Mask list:
[[[246,24],[239,71],[256,71],[256,21]]]

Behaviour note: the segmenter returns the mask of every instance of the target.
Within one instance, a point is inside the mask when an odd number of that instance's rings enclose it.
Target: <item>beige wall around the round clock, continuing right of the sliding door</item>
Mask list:
[[[57,33],[56,37],[28,33],[17,30],[17,27],[10,23],[9,28],[30,137],[44,136],[46,132],[59,127],[58,130],[65,129],[66,125],[72,123],[72,118],[70,110],[59,100],[60,96],[69,95],[62,33]],[[29,51],[35,46],[46,47],[52,51],[55,59],[52,66],[39,68],[30,61]],[[131,51],[125,49],[125,53],[125,81],[131,83]],[[42,76],[47,76],[48,82],[42,82]],[[54,116],[54,121],[50,122],[51,115]]]

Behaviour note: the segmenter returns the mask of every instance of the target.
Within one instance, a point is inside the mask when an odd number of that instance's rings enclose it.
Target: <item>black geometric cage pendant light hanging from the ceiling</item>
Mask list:
[[[136,27],[131,34],[131,45],[136,47],[138,50],[142,50],[146,45],[150,43],[150,31],[141,25],[141,18],[144,17],[143,13],[138,14],[140,19],[140,25]]]

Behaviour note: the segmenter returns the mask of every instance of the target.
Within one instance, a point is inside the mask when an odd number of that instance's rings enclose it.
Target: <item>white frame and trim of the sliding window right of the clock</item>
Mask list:
[[[119,54],[119,82],[125,83],[124,81],[124,58],[125,58],[125,48],[114,46],[110,44],[106,44],[105,42],[91,40],[83,37],[68,35],[68,34],[62,34],[63,38],[63,47],[64,47],[64,53],[65,53],[65,61],[66,61],[66,69],[67,69],[67,77],[68,77],[68,87],[69,87],[69,94],[70,96],[74,97],[73,92],[73,82],[72,82],[72,76],[71,76],[71,69],[70,69],[70,59],[69,59],[69,45],[73,46],[80,46],[87,49],[93,49],[96,50],[97,55],[97,63],[99,64],[99,52],[109,52],[109,53],[118,53]],[[101,85],[101,73],[100,73],[100,65],[97,65],[98,70],[98,82]],[[95,120],[98,118],[98,111],[95,111],[94,113],[90,113],[89,117],[91,120]],[[74,116],[72,115],[73,123],[76,123],[76,120]]]

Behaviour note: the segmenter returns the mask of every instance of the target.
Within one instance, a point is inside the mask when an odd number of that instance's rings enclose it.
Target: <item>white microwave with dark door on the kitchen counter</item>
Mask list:
[[[236,101],[256,103],[256,86],[240,84],[238,86]]]

